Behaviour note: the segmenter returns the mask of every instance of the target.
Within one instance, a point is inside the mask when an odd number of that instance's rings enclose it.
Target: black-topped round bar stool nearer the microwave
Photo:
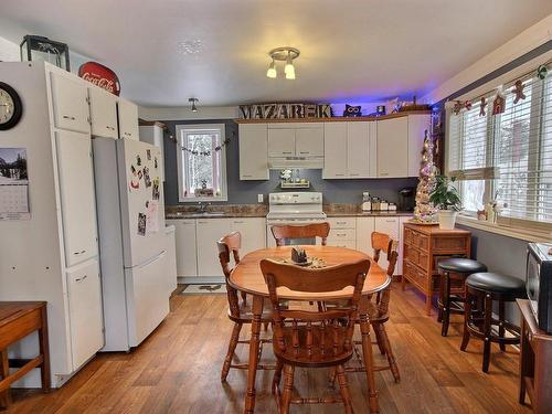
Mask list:
[[[466,304],[464,314],[464,337],[460,349],[466,350],[470,336],[484,340],[482,371],[489,371],[490,344],[497,342],[501,351],[506,344],[520,342],[519,327],[505,318],[505,302],[526,297],[526,283],[513,276],[497,273],[475,273],[466,279]],[[492,301],[498,300],[498,319],[492,317]],[[498,335],[492,333],[498,326]],[[505,336],[506,331],[513,335]]]

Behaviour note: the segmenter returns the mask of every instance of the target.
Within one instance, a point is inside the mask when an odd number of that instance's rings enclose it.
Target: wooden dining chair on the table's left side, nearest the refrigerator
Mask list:
[[[231,234],[225,235],[219,242],[216,242],[219,247],[219,259],[221,262],[222,272],[224,273],[224,277],[226,279],[226,293],[229,299],[229,318],[234,322],[234,328],[232,330],[232,335],[230,337],[229,351],[226,352],[226,358],[224,359],[224,363],[222,365],[221,381],[226,381],[226,376],[229,375],[230,369],[238,369],[238,370],[247,370],[247,363],[232,363],[235,354],[235,350],[238,343],[250,343],[250,340],[240,340],[240,332],[244,323],[252,323],[253,321],[253,311],[251,305],[247,304],[247,296],[245,293],[242,293],[242,301],[240,301],[237,290],[234,289],[230,283],[229,278],[232,273],[231,261],[234,259],[234,264],[237,265],[240,263],[240,248],[242,246],[242,235],[240,232],[233,232]],[[270,311],[267,309],[263,311],[261,317],[261,321],[265,325],[265,328],[270,323]],[[259,358],[263,352],[263,343],[270,343],[270,339],[261,339],[261,351]],[[258,364],[257,369],[259,370],[274,370],[275,365],[269,364]]]

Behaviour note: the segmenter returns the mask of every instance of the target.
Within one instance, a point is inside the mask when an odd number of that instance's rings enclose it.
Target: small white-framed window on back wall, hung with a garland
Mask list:
[[[181,202],[226,201],[224,125],[178,125]]]

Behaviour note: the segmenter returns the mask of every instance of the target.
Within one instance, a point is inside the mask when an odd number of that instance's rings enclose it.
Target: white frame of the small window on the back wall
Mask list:
[[[220,150],[220,177],[221,177],[221,195],[213,197],[190,197],[184,195],[184,189],[188,183],[184,182],[184,150],[182,148],[183,139],[189,131],[219,131]],[[199,202],[217,202],[227,201],[227,171],[226,171],[226,146],[223,142],[226,139],[226,127],[224,124],[182,124],[176,126],[177,136],[177,168],[178,168],[178,199],[181,203],[199,203]]]

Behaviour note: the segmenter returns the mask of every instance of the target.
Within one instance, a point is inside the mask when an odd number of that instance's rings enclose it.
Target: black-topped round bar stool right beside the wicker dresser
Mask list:
[[[464,308],[460,305],[464,302],[464,297],[460,295],[450,295],[452,279],[460,278],[464,285],[464,282],[469,275],[487,272],[487,266],[470,258],[454,257],[440,261],[437,267],[440,273],[439,300],[437,302],[439,315],[437,320],[443,325],[440,335],[446,337],[448,333],[450,314],[464,314]]]

